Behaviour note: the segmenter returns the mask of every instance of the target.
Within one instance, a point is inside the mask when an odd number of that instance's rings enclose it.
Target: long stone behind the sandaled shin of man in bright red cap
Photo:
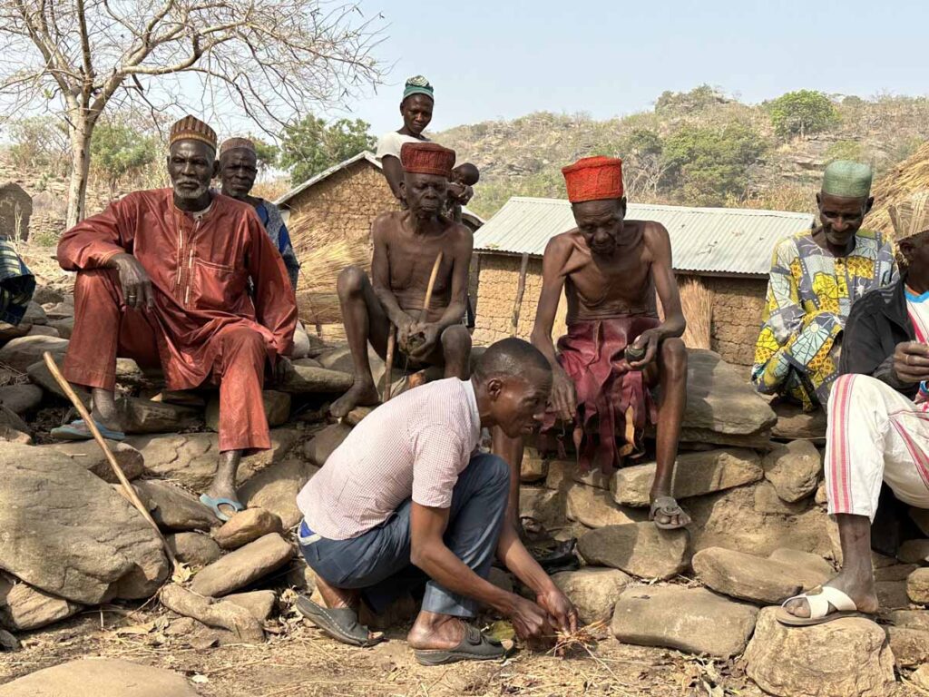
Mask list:
[[[622,467],[613,475],[610,491],[622,506],[649,506],[648,494],[655,480],[653,462]],[[684,453],[674,464],[672,494],[677,499],[720,492],[761,480],[765,471],[761,458],[752,450],[709,450]]]

